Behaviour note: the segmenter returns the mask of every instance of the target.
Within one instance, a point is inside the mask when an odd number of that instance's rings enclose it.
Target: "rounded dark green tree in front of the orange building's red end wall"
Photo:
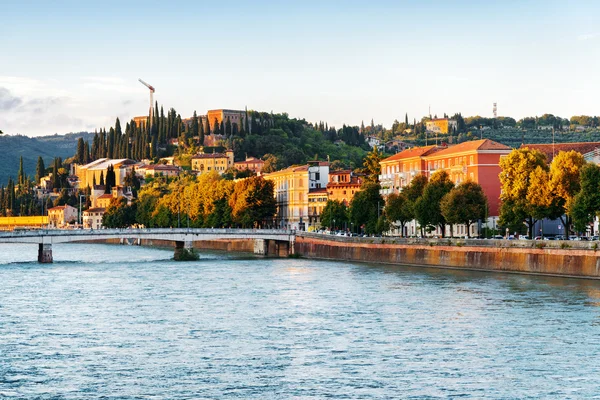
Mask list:
[[[487,198],[479,184],[467,181],[442,198],[440,210],[447,223],[464,224],[470,236],[471,224],[487,215]]]

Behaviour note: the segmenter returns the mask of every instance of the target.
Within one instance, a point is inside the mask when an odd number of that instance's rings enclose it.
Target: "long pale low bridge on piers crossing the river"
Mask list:
[[[39,229],[0,232],[0,243],[38,244],[38,262],[52,262],[52,245],[82,241],[119,240],[121,243],[141,244],[144,239],[175,243],[175,254],[193,247],[200,240],[254,240],[254,253],[267,255],[269,243],[274,242],[276,254],[293,254],[295,231],[276,229],[101,229],[69,230]]]

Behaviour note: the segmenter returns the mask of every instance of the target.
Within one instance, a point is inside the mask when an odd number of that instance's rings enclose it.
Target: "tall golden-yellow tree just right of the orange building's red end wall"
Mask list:
[[[527,200],[531,173],[540,167],[548,171],[546,156],[535,149],[515,149],[500,159],[500,218],[501,226],[516,227],[525,222],[530,237],[537,217],[543,214],[539,205]]]

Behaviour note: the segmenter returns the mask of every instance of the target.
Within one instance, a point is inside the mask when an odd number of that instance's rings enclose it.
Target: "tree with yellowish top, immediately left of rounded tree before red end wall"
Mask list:
[[[437,226],[442,237],[446,235],[446,218],[442,215],[440,202],[448,194],[454,183],[450,180],[448,172],[439,170],[431,175],[431,179],[423,190],[423,195],[415,202],[415,217],[421,226]]]

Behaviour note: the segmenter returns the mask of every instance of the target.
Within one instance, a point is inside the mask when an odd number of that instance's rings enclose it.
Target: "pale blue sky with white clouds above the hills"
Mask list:
[[[287,112],[331,126],[429,113],[598,115],[598,1],[1,0],[0,130],[148,112]]]

